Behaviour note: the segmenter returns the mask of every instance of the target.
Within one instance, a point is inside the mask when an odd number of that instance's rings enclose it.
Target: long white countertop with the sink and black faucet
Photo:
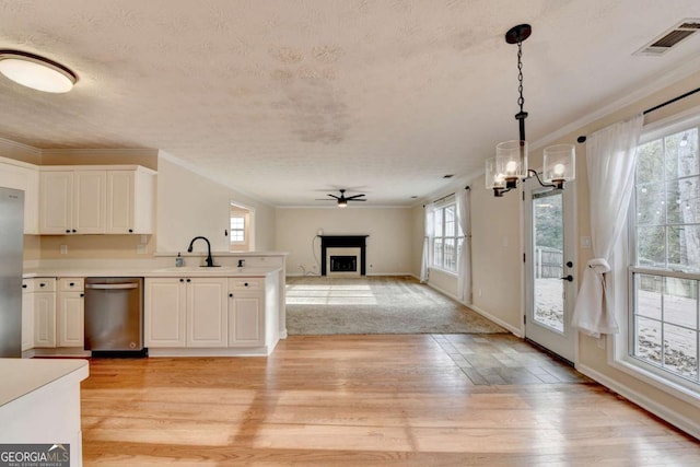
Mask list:
[[[168,278],[168,277],[246,277],[265,278],[281,268],[278,266],[260,267],[246,266],[243,268],[232,266],[221,267],[198,267],[185,266],[182,268],[38,268],[24,271],[24,278],[55,277],[55,278],[90,278],[90,277],[144,277],[144,278]]]

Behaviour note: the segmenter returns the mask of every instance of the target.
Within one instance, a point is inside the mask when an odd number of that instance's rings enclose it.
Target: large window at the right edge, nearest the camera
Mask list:
[[[628,362],[700,389],[698,120],[648,131],[630,215]]]

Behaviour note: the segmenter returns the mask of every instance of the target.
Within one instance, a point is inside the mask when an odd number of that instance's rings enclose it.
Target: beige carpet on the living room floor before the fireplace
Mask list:
[[[289,335],[508,332],[411,277],[287,279]]]

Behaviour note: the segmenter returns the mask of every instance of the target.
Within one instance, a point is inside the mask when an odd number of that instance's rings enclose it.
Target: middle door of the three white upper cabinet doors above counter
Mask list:
[[[75,171],[73,173],[73,227],[74,233],[105,233],[107,172]]]

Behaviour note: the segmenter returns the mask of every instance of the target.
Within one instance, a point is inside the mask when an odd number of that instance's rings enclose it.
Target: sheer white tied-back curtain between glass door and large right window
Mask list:
[[[627,220],[643,121],[643,115],[638,114],[596,131],[586,141],[594,258],[583,273],[572,325],[595,337],[619,331],[605,273],[610,271],[614,246]]]

